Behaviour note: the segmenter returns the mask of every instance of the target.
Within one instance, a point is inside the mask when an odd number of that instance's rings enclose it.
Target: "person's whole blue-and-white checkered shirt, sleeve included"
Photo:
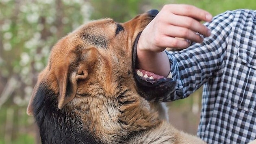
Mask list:
[[[185,98],[202,85],[197,135],[209,144],[244,144],[256,139],[256,11],[227,11],[205,25],[204,42],[167,52],[175,95]]]

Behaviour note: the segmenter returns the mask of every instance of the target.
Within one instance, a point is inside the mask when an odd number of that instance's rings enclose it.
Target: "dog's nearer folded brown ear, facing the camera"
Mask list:
[[[59,69],[57,80],[59,83],[58,108],[61,109],[68,102],[74,99],[78,87],[78,80],[84,80],[88,76],[88,71],[95,63],[97,57],[97,49],[92,47],[83,49],[74,53],[75,57],[83,57],[80,59],[78,67],[74,70],[71,64],[66,63],[63,68]],[[69,55],[74,57],[74,55]]]

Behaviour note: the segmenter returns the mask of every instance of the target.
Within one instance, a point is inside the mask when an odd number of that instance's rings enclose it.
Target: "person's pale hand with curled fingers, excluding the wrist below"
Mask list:
[[[191,5],[168,4],[143,30],[137,49],[161,52],[166,47],[184,49],[193,42],[202,42],[210,30],[200,21],[210,21],[210,13]]]

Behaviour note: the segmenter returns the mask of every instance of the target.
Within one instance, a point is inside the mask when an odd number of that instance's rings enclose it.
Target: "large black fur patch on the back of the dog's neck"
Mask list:
[[[33,101],[35,120],[43,144],[96,144],[82,119],[74,110],[57,106],[57,96],[41,83]]]

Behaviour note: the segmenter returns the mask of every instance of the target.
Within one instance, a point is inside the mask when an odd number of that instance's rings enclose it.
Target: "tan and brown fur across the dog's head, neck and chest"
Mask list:
[[[118,34],[112,19],[92,21],[59,40],[39,75],[27,113],[34,114],[34,97],[46,83],[59,93],[58,108],[80,117],[99,142],[112,144],[126,136],[129,144],[204,143],[172,127],[166,106],[149,103],[136,91],[132,45],[151,20],[147,13],[139,15],[122,23],[124,30]]]

